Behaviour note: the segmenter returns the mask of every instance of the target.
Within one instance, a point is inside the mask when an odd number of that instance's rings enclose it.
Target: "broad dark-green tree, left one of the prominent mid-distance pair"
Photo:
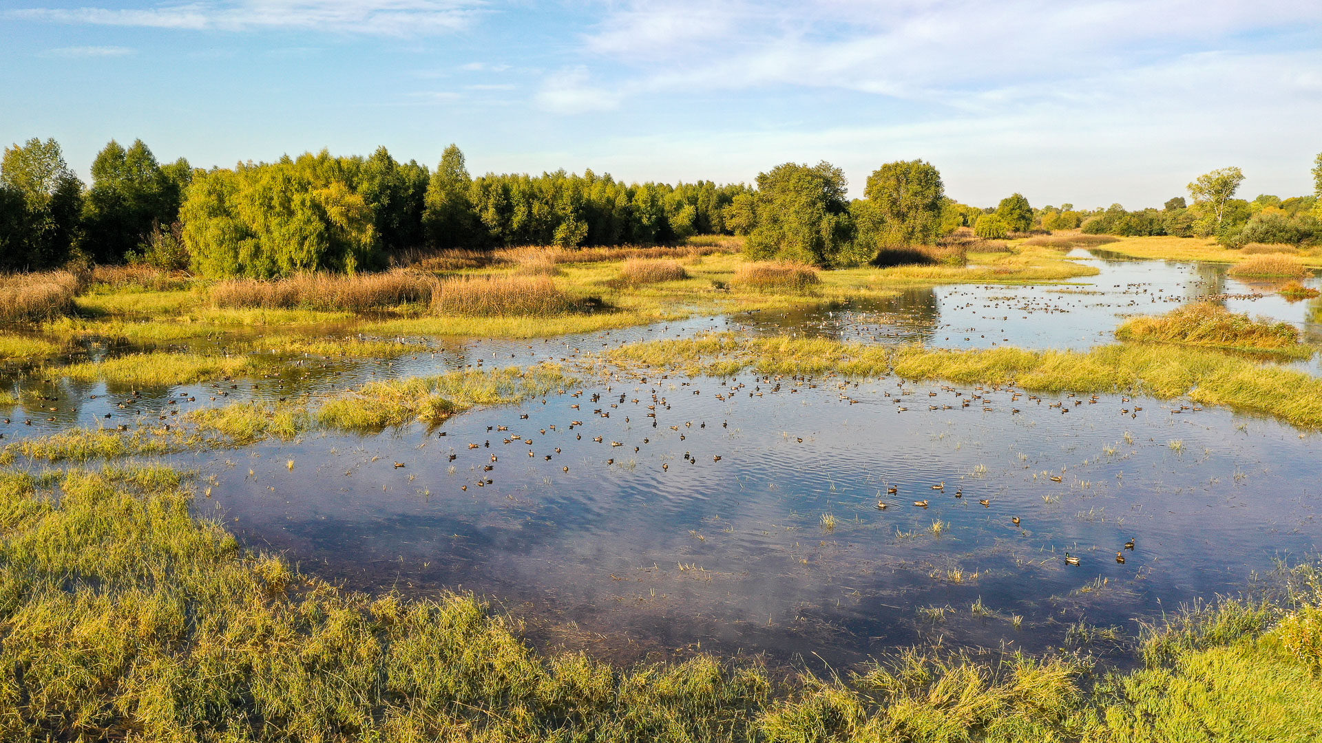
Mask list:
[[[748,234],[748,254],[832,264],[853,237],[846,185],[845,173],[826,161],[758,173],[758,225]]]

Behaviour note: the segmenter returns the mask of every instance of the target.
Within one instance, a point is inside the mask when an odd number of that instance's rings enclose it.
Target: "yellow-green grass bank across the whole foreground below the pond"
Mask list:
[[[7,740],[1303,740],[1322,596],[1179,615],[1147,662],[902,652],[779,678],[539,654],[472,596],[369,596],[242,550],[171,469],[0,471]],[[1159,650],[1159,652],[1158,652]]]

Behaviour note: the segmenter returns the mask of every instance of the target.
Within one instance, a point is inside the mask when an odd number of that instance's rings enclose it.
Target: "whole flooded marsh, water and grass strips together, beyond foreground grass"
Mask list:
[[[665,267],[658,320],[571,334],[66,319],[7,336],[67,354],[5,370],[0,461],[172,467],[245,549],[373,596],[473,592],[551,653],[1132,669],[1145,625],[1317,550],[1322,317],[1224,264],[1069,256],[1067,283],[859,272],[728,307],[701,272],[734,259],[702,256]],[[1195,300],[1285,323],[1285,352],[1116,340]]]

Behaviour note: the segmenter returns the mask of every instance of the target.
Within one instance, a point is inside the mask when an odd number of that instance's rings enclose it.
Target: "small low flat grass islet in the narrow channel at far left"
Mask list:
[[[258,360],[251,356],[152,352],[48,366],[42,374],[48,379],[66,377],[75,382],[102,379],[110,385],[160,387],[247,375],[258,368]]]

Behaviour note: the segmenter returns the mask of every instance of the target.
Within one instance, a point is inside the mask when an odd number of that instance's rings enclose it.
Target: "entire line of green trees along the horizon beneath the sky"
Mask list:
[[[624,184],[591,171],[475,178],[455,145],[435,171],[383,147],[370,157],[323,151],[205,171],[184,159],[163,165],[140,140],[111,141],[91,176],[90,186],[79,181],[54,140],[4,151],[0,270],[143,262],[267,278],[377,268],[419,249],[653,245],[695,234],[747,235],[755,258],[857,266],[961,227],[986,239],[1077,227],[1231,246],[1322,239],[1315,197],[1233,198],[1237,168],[1190,184],[1191,205],[1179,197],[1142,212],[1034,209],[1018,193],[973,208],[948,198],[940,172],[923,160],[882,165],[857,200],[829,163],[785,163],[759,173],[755,186]],[[1322,156],[1314,176],[1322,190]]]

